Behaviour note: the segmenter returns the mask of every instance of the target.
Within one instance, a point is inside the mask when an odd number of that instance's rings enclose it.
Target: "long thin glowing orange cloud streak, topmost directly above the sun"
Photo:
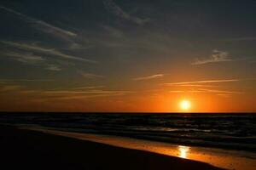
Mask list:
[[[220,79],[220,80],[202,80],[202,81],[194,81],[194,82],[168,82],[164,83],[165,85],[184,85],[184,84],[197,84],[197,83],[214,83],[214,82],[239,82],[240,79]]]

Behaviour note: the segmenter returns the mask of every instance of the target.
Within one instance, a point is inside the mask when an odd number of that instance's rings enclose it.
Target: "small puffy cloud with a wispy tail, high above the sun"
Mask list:
[[[212,55],[208,59],[195,59],[195,61],[191,65],[204,65],[208,63],[218,63],[227,61],[232,61],[232,59],[229,59],[229,53],[215,49],[212,50]]]

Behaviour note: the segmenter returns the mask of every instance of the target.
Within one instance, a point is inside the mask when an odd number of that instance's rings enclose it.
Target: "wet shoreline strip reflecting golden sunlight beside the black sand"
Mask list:
[[[247,151],[168,144],[144,139],[133,139],[129,137],[95,133],[73,133],[42,128],[31,129],[43,133],[70,137],[73,139],[81,139],[126,149],[144,150],[165,156],[175,156],[186,160],[205,162],[224,169],[253,170],[253,167],[256,167],[256,154],[249,153]]]

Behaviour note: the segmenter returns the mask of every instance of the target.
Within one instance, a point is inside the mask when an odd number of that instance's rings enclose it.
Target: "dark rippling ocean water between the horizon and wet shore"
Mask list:
[[[256,153],[256,114],[0,113],[0,123]]]

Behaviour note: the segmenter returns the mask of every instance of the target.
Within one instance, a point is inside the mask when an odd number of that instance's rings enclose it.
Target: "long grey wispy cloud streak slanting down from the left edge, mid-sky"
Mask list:
[[[30,43],[25,43],[25,42],[9,42],[9,41],[0,41],[0,42],[5,45],[9,45],[11,47],[20,48],[20,49],[27,50],[27,51],[55,55],[57,57],[60,57],[61,59],[74,59],[74,60],[79,60],[79,61],[96,64],[95,60],[84,59],[84,58],[76,57],[73,55],[63,54],[61,51],[58,51],[55,48],[43,48],[43,47],[38,46],[35,43],[30,44]]]

